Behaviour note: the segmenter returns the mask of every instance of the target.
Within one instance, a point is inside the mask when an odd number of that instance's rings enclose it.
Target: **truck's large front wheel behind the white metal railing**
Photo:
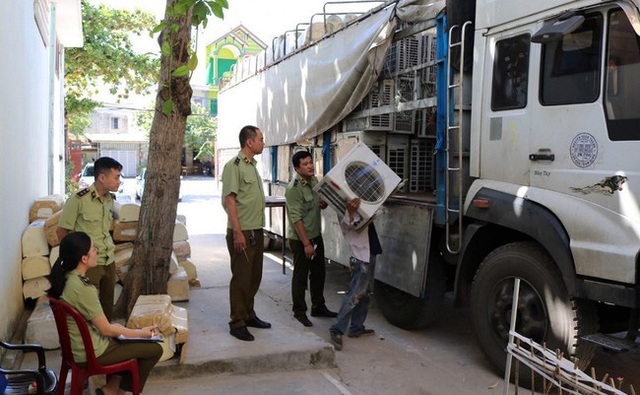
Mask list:
[[[516,331],[538,344],[578,358],[584,369],[596,346],[579,341],[598,327],[595,305],[569,297],[560,271],[551,257],[534,242],[515,242],[492,251],[480,264],[471,289],[473,328],[480,347],[499,373],[506,367],[514,279],[520,278]],[[520,364],[519,384],[531,386],[531,370]],[[515,377],[512,364],[511,378]],[[541,376],[535,375],[539,388]]]

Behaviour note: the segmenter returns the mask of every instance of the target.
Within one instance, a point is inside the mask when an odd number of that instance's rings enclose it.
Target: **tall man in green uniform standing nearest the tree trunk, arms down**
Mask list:
[[[256,316],[253,302],[262,281],[265,199],[262,178],[254,156],[264,148],[264,137],[255,126],[240,130],[240,152],[222,170],[222,206],[227,212],[227,249],[231,260],[229,333],[253,341],[247,329],[271,328]]]

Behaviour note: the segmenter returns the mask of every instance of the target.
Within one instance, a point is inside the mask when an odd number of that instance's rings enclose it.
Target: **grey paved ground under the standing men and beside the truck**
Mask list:
[[[127,180],[130,181],[130,180]],[[277,250],[265,254],[265,269],[256,299],[258,315],[272,329],[252,329],[256,341],[245,343],[228,334],[230,271],[224,231],[226,217],[211,178],[183,181],[178,213],[187,218],[192,261],[201,288],[192,288],[189,302],[187,359],[160,363],[146,394],[502,394],[502,378],[489,366],[470,327],[469,314],[451,303],[432,328],[404,331],[390,325],[372,305],[367,326],[376,335],[345,338],[343,351],[329,344],[329,319],[315,319],[304,328],[291,315],[291,268],[282,274]],[[325,297],[336,310],[348,284],[348,271],[327,266]],[[57,351],[48,352],[58,369]],[[638,382],[640,353],[623,357],[600,352],[598,376],[624,376]],[[640,388],[638,382],[636,388]],[[529,393],[529,392],[527,392]]]

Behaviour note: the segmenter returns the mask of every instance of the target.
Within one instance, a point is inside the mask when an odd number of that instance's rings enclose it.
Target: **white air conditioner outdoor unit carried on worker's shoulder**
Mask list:
[[[375,216],[393,193],[400,177],[364,143],[356,144],[315,186],[322,199],[343,216],[347,201],[359,197],[358,213],[362,218],[357,229]]]

